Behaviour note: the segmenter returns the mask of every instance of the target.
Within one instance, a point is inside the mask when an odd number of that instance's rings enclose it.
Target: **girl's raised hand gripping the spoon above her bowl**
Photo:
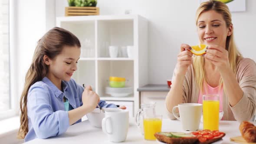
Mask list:
[[[84,107],[88,108],[89,111],[93,111],[99,102],[99,96],[92,91],[90,85],[86,86],[84,92],[82,93],[82,102]]]

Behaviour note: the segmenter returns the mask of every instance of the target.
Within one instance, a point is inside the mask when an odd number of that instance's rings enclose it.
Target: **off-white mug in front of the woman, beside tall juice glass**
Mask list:
[[[176,108],[179,109],[180,117],[175,113]],[[175,106],[172,109],[172,113],[175,118],[181,121],[184,131],[197,131],[199,129],[202,109],[202,104],[184,103]]]

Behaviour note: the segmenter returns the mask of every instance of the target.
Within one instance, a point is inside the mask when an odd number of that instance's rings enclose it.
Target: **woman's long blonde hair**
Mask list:
[[[229,8],[226,6],[225,3],[217,0],[210,0],[200,4],[200,7],[197,9],[197,13],[196,13],[196,25],[197,25],[197,20],[200,14],[207,12],[209,10],[214,10],[217,13],[220,13],[226,22],[226,27],[233,25]],[[239,56],[241,56],[241,53],[236,48],[236,45],[233,40],[233,33],[230,36],[226,37],[226,50],[228,51],[230,69],[232,69],[233,73],[236,74],[236,65],[237,65]],[[207,82],[206,73],[204,70],[203,56],[195,56],[193,59],[193,66],[194,66],[194,72],[196,76],[197,87],[203,90],[203,82]],[[219,85],[222,85],[222,84],[223,84],[223,80],[222,78],[220,78]],[[225,89],[224,85],[223,87]]]

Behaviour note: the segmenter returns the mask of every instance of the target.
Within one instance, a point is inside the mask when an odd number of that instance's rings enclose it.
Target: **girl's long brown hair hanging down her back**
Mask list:
[[[43,62],[43,56],[54,59],[62,52],[64,46],[81,47],[79,39],[66,29],[54,27],[50,29],[36,46],[33,61],[25,77],[24,89],[20,97],[20,129],[18,138],[25,138],[28,133],[28,116],[27,116],[27,95],[31,85],[41,81],[48,72],[47,65]]]

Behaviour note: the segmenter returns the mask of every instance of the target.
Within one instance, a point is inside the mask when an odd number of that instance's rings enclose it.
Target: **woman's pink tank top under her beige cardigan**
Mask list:
[[[207,82],[204,82],[203,83],[203,89],[204,89],[204,93],[203,93],[202,90],[199,91],[199,97],[198,97],[197,103],[203,104],[203,95],[217,94],[217,95],[219,95],[219,98],[220,98],[220,110],[223,111],[223,106],[222,106],[223,85],[221,85],[221,88],[220,88],[220,86],[217,86],[216,88],[213,88],[210,85],[208,85]]]

